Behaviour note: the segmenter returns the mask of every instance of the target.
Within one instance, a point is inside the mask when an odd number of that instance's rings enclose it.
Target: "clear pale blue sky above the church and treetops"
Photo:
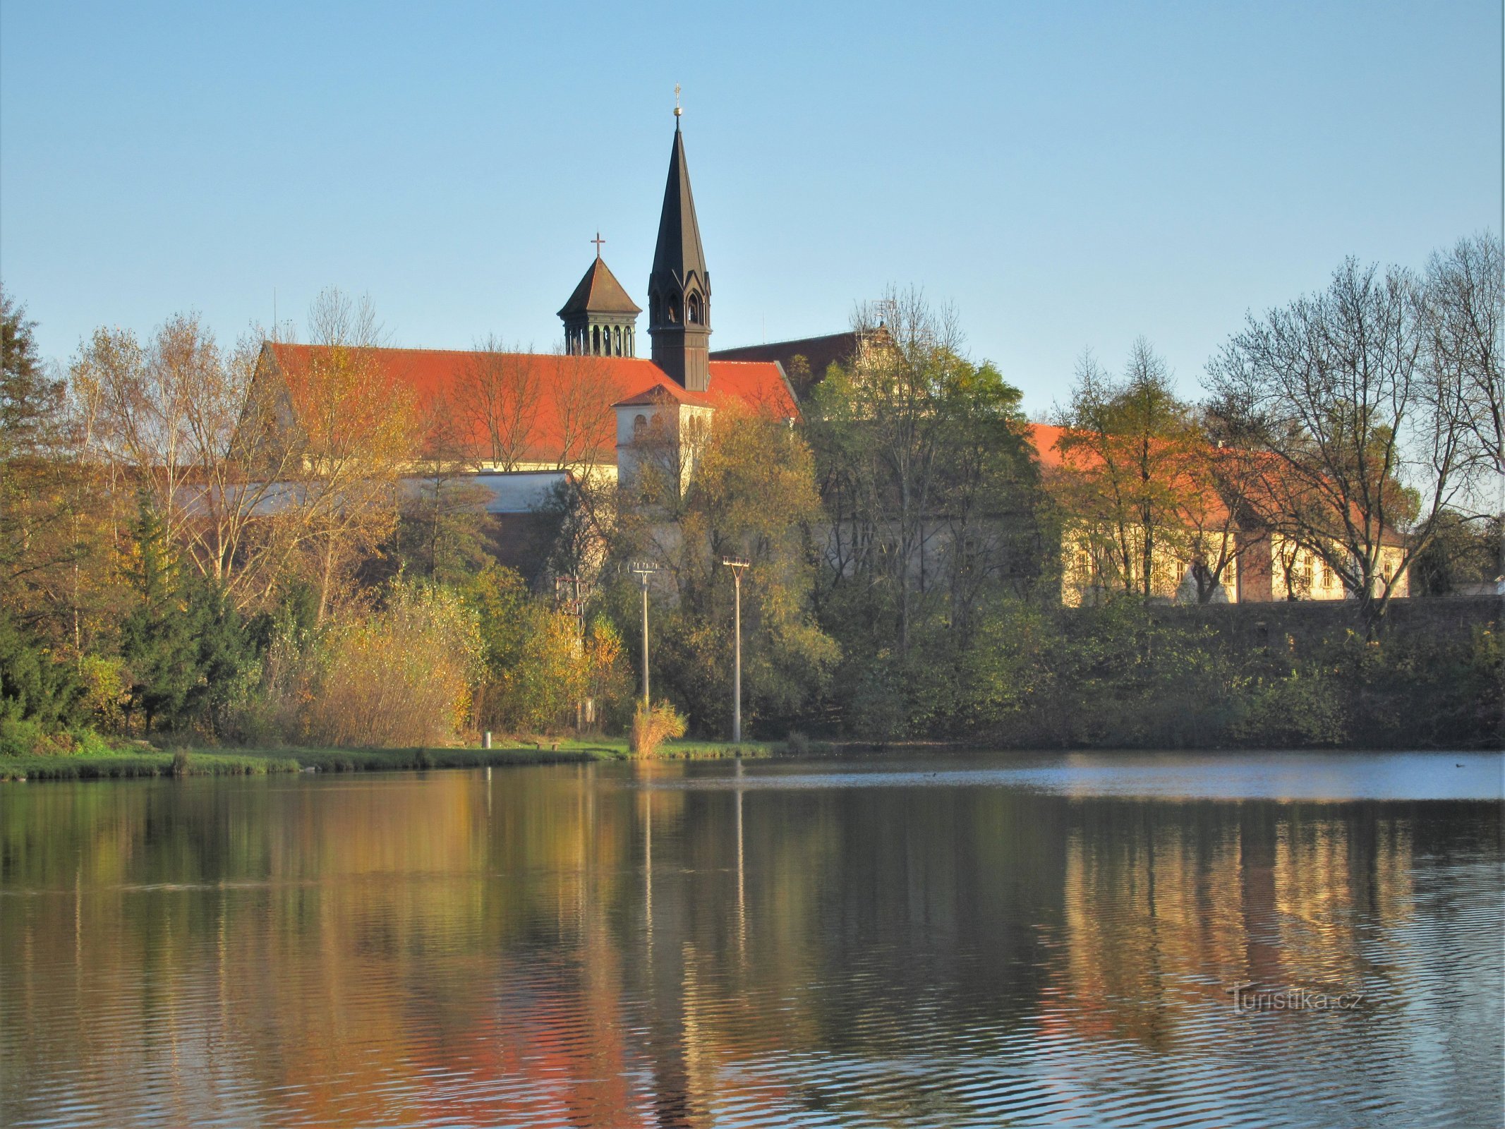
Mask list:
[[[1084,346],[1195,391],[1345,254],[1499,230],[1500,57],[1499,0],[3,0],[0,278],[60,361],[328,285],[399,345],[548,348],[597,227],[647,304],[677,81],[712,348],[914,283],[1038,415]]]

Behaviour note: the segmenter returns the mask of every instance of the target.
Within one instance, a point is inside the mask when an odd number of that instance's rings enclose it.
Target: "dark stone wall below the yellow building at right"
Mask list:
[[[1351,601],[1157,605],[1151,614],[1162,623],[1209,623],[1237,647],[1278,644],[1287,635],[1297,643],[1336,640],[1350,628],[1364,634],[1359,610]],[[1502,623],[1505,598],[1500,596],[1415,596],[1391,601],[1382,634],[1461,641],[1475,628],[1491,626],[1497,631]]]

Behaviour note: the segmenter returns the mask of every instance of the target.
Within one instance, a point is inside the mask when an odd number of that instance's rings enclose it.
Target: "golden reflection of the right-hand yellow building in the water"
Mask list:
[[[1410,915],[1410,832],[1373,811],[1082,808],[1066,848],[1064,998],[1047,1025],[1163,1049],[1236,983],[1342,991]],[[1099,822],[1088,822],[1088,819]],[[1138,826],[1135,822],[1142,819]]]

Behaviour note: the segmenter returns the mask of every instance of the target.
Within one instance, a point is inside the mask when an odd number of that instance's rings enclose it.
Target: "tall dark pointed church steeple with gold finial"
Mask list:
[[[659,238],[649,274],[649,336],[653,339],[655,364],[685,388],[706,391],[710,387],[710,275],[700,247],[679,117],[676,105],[674,148],[670,151]]]

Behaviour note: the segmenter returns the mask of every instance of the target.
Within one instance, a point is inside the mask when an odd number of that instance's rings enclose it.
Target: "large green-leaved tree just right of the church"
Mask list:
[[[951,312],[889,292],[855,321],[862,345],[807,405],[814,604],[844,656],[832,706],[894,736],[941,724],[983,608],[1041,577],[1050,515],[1019,391],[963,355]]]

